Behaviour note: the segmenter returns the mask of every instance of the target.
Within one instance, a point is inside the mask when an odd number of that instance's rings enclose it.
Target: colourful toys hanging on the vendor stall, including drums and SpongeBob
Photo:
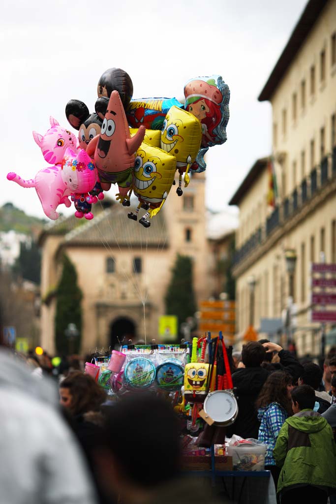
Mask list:
[[[208,333],[193,338],[192,343],[130,342],[121,345],[119,351],[113,350],[110,358],[93,357],[86,363],[85,372],[106,390],[111,401],[146,391],[171,402],[184,425],[181,442],[187,469],[210,468],[215,447],[216,457],[222,457],[216,459],[220,467],[232,469],[232,458],[227,457],[225,447],[226,427],[238,414],[231,369],[232,347],[225,346],[222,333],[215,337]]]

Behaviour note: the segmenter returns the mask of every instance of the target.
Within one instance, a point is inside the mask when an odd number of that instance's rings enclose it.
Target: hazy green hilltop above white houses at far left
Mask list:
[[[46,224],[46,219],[39,219],[25,214],[23,210],[16,208],[12,203],[5,203],[0,207],[0,231],[13,229],[18,233],[36,235]]]

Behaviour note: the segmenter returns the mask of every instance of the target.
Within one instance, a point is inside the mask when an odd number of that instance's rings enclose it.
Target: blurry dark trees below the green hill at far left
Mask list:
[[[13,272],[24,280],[30,280],[37,284],[40,283],[41,253],[33,239],[31,244],[20,243],[20,255],[13,266]]]

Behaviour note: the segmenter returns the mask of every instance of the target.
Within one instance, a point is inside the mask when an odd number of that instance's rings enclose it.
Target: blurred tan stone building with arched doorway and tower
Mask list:
[[[101,210],[99,203],[96,207]],[[60,218],[40,235],[41,344],[49,352],[55,350],[54,292],[63,253],[75,265],[83,292],[83,352],[114,345],[121,335],[133,340],[157,339],[177,254],[193,260],[197,300],[207,299],[212,292],[204,174],[193,175],[180,198],[173,187],[148,229],[127,219],[128,211],[113,204],[89,222]]]

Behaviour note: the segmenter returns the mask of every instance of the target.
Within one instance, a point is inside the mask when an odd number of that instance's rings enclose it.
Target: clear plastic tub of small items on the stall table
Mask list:
[[[236,471],[263,471],[265,468],[266,445],[228,446],[226,454],[232,457]]]

